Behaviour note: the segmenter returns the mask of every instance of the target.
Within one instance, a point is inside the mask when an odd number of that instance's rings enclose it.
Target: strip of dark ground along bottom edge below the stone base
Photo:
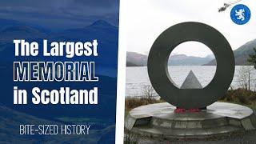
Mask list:
[[[139,144],[256,144],[256,130],[247,131],[245,134],[233,134],[225,138],[169,140],[159,142],[152,139],[140,139]]]

